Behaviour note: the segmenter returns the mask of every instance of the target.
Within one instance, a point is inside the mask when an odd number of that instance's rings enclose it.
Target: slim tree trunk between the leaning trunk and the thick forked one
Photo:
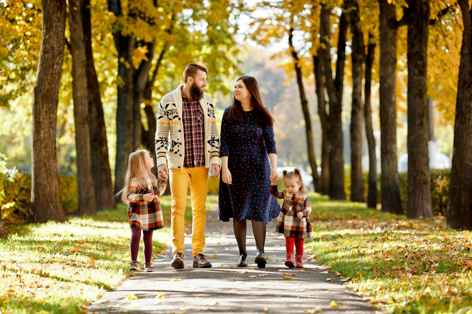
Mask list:
[[[326,20],[329,23],[329,8],[326,8],[326,4],[321,4],[320,14],[320,25],[326,25]],[[329,35],[323,33],[326,31],[326,27],[320,27],[320,46],[317,49],[316,56],[313,55],[313,72],[315,74],[315,89],[316,96],[318,98],[318,115],[320,116],[321,124],[321,178],[320,181],[320,192],[321,194],[329,195],[329,115],[326,112],[326,99],[325,99],[325,84],[323,81],[324,75],[324,56],[326,54],[326,47],[323,48],[321,43],[325,39],[325,36]],[[313,38],[315,34],[312,34]]]

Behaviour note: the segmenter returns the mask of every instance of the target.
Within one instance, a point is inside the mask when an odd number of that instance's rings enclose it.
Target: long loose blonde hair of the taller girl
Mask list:
[[[142,178],[149,176],[151,177],[151,169],[146,169],[146,158],[151,154],[147,149],[136,149],[133,153],[129,154],[128,157],[128,166],[126,168],[126,175],[125,175],[125,184],[123,188],[115,195],[121,195],[121,201],[125,204],[129,204],[128,201],[128,189],[133,178],[136,178],[138,181],[138,190],[143,188]]]

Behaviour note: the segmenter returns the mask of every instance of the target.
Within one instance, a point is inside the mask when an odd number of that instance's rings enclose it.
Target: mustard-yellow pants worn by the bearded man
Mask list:
[[[203,253],[205,246],[205,202],[208,187],[208,169],[194,167],[169,169],[170,193],[172,194],[171,236],[173,253],[184,253],[185,207],[187,206],[187,189],[190,180],[192,197],[192,254],[193,257]]]

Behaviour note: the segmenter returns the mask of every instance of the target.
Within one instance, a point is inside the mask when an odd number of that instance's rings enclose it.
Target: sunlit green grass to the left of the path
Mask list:
[[[166,228],[154,232],[154,254],[164,248],[170,232],[170,196],[160,200]],[[208,195],[207,208],[217,200]],[[185,222],[192,222],[190,197]],[[18,225],[15,232],[0,240],[2,314],[80,313],[131,275],[125,205],[93,217],[69,217],[65,224]],[[143,259],[140,250],[138,260]]]

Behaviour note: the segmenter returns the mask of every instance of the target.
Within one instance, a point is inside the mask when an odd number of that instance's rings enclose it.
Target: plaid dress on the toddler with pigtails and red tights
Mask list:
[[[310,197],[300,193],[300,198],[287,191],[278,191],[277,185],[270,185],[270,194],[283,199],[284,203],[277,217],[275,231],[283,233],[286,238],[310,239],[312,237],[312,225],[308,215],[312,212]],[[303,212],[303,217],[298,218],[297,213]]]

